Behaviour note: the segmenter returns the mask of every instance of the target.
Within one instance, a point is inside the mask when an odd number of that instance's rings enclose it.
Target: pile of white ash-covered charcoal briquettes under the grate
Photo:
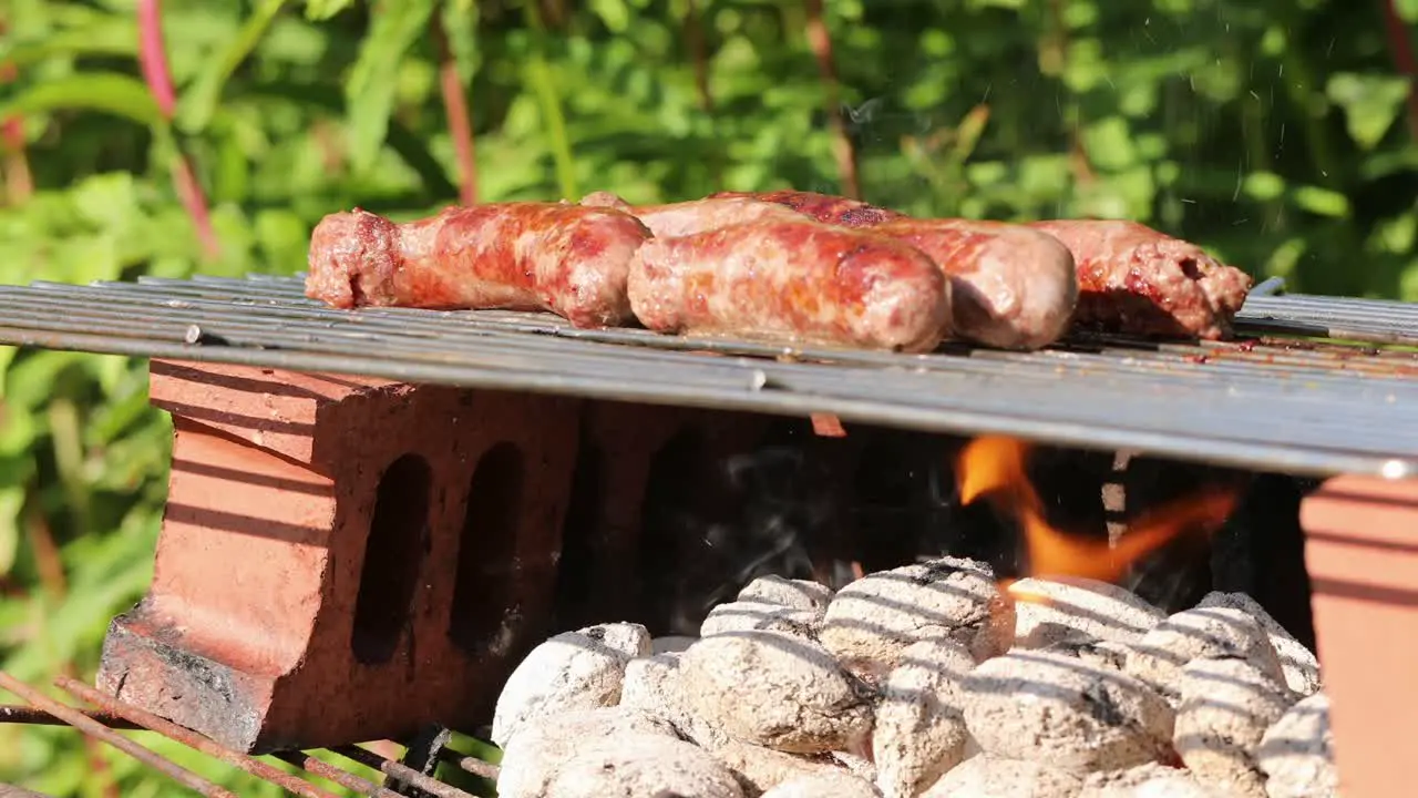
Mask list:
[[[1251,598],[937,558],[832,592],[761,576],[698,638],[557,635],[493,720],[499,795],[1324,798],[1313,653]]]

